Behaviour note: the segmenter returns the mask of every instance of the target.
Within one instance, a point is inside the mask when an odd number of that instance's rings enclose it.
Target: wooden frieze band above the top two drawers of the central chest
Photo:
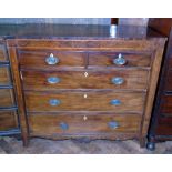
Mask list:
[[[142,51],[152,52],[156,49],[159,41],[164,38],[155,39],[100,39],[100,38],[80,38],[80,39],[9,39],[9,47],[18,45],[18,50],[48,50],[48,51]],[[155,41],[156,40],[156,41]]]

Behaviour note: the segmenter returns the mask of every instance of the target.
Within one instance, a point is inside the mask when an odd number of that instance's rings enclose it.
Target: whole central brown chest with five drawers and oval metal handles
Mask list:
[[[7,47],[24,144],[41,136],[144,145],[164,38],[142,27],[21,28]]]

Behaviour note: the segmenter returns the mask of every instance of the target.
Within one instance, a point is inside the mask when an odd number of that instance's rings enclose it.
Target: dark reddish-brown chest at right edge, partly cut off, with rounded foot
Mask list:
[[[149,26],[168,37],[149,130],[148,149],[154,150],[155,142],[172,140],[172,19],[150,19]]]

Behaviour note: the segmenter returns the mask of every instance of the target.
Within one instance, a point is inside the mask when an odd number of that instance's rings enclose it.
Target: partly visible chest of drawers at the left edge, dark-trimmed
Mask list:
[[[6,42],[0,39],[0,135],[19,133],[19,122]]]

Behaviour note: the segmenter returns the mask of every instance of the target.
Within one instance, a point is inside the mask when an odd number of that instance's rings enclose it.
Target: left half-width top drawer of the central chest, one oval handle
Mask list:
[[[22,68],[84,67],[84,53],[68,51],[19,51]]]

